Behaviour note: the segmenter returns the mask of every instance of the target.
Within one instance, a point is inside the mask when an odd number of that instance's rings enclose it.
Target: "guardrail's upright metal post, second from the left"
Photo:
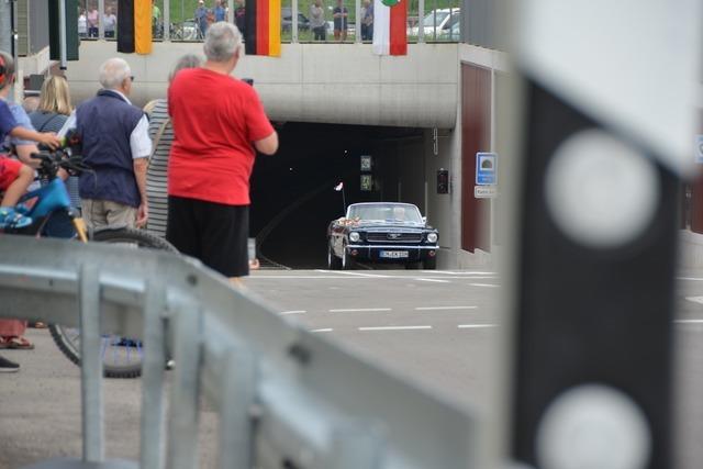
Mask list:
[[[156,277],[152,277],[156,278]],[[144,361],[142,371],[142,450],[143,468],[165,466],[164,373],[168,357],[165,346],[166,286],[163,281],[146,283],[144,298]]]

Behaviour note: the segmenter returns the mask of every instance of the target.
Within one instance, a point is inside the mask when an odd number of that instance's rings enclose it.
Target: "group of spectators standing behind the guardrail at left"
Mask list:
[[[204,60],[187,55],[177,62],[167,98],[150,103],[148,115],[130,101],[130,65],[111,58],[100,66],[102,88],[94,98],[71,111],[66,80],[51,77],[42,87],[38,110],[27,116],[21,107],[4,102],[12,58],[0,54],[0,70],[5,70],[0,75],[0,141],[5,134],[18,138],[11,142],[19,158],[0,156],[0,189],[5,191],[0,227],[32,223],[14,206],[33,180],[35,163],[29,155],[36,152],[35,143],[56,146],[52,131],[75,129],[83,163],[92,169],[77,185],[89,228],[146,227],[238,284],[249,272],[255,156],[275,154],[278,134],[254,87],[232,76],[243,55],[238,29],[212,24],[203,51]],[[213,101],[213,96],[220,98]],[[0,348],[33,348],[23,337],[25,326],[0,320]],[[18,368],[0,357],[0,371]]]

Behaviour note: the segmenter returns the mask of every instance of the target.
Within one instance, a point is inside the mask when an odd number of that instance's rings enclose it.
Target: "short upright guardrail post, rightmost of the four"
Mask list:
[[[249,469],[254,467],[250,411],[256,397],[256,359],[244,347],[228,348],[223,358],[220,467]]]

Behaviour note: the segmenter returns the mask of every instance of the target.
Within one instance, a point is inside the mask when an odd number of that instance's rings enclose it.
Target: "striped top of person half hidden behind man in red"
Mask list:
[[[156,137],[166,123],[166,127],[158,143]],[[149,206],[149,220],[146,226],[148,233],[166,237],[166,221],[168,219],[167,169],[168,154],[174,142],[174,127],[168,115],[168,103],[165,99],[156,101],[149,116],[149,137],[154,143],[154,156],[149,159],[146,170],[146,199]]]

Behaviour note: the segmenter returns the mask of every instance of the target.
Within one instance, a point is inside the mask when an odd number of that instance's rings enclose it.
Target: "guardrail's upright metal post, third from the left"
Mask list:
[[[198,423],[202,321],[198,305],[183,302],[172,316],[175,325],[175,377],[171,387],[168,467],[198,467]],[[170,323],[169,323],[170,325]]]

